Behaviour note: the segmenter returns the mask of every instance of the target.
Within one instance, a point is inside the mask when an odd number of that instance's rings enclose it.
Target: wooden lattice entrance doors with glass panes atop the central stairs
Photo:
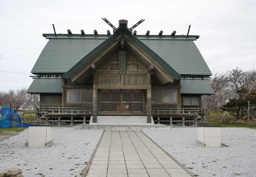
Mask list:
[[[140,89],[101,89],[100,112],[143,112]]]

